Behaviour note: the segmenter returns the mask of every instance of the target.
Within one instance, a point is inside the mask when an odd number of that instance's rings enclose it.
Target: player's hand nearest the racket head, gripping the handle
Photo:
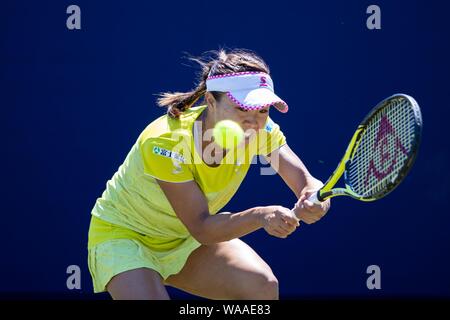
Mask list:
[[[292,209],[297,218],[307,224],[319,221],[330,209],[330,199],[321,202],[320,204],[314,204],[308,200],[309,196],[314,192],[317,192],[322,186],[323,183],[320,180],[313,178],[308,181],[308,184],[303,188],[294,209]]]

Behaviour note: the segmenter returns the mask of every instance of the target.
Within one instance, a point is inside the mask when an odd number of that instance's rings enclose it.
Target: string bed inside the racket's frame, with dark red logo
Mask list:
[[[396,181],[408,160],[415,125],[414,111],[405,98],[390,101],[373,115],[347,168],[354,192],[370,197]]]

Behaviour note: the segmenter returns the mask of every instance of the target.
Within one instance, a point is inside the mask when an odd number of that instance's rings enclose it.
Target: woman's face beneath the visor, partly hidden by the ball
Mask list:
[[[215,100],[216,107],[213,109],[214,121],[217,123],[221,120],[229,119],[237,122],[245,132],[246,140],[264,128],[267,117],[269,116],[270,106],[260,110],[247,111],[228,98],[226,94],[221,95],[219,100]]]

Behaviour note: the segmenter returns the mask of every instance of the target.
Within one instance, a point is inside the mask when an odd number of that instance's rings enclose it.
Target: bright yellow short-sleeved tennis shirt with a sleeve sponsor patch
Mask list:
[[[190,234],[155,179],[196,181],[210,213],[215,214],[236,193],[254,156],[267,155],[286,142],[279,126],[268,117],[265,128],[245,148],[228,152],[217,167],[208,166],[199,153],[201,122],[196,121],[205,108],[193,107],[179,119],[164,115],[150,123],[107,182],[92,215],[162,241],[185,239]],[[99,241],[93,239],[90,246]]]

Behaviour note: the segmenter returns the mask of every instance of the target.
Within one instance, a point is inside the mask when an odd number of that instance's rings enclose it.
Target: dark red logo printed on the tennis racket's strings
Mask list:
[[[367,186],[372,176],[378,181],[381,181],[392,173],[400,153],[403,153],[405,156],[408,155],[408,150],[396,135],[386,115],[380,120],[373,151],[375,156],[369,162],[369,168],[364,181],[365,186]]]

